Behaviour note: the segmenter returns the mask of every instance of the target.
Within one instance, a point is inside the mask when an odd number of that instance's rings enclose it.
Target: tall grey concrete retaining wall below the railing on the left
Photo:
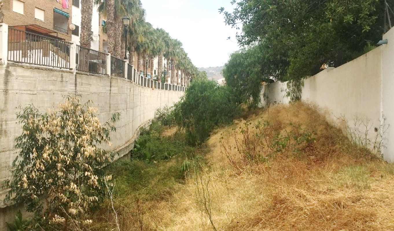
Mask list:
[[[102,123],[113,113],[121,113],[115,124],[117,131],[110,135],[113,145],[107,147],[121,155],[132,149],[139,127],[154,118],[158,107],[173,105],[184,94],[141,87],[109,76],[13,63],[0,66],[0,181],[10,176],[18,152],[14,146],[15,137],[22,131],[16,118],[19,107],[33,104],[45,111],[74,92],[82,95],[82,102],[93,101]]]

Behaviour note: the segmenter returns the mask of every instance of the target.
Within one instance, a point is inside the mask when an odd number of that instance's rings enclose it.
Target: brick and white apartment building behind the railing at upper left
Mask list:
[[[80,0],[4,0],[3,22],[10,28],[38,33],[80,44]],[[93,7],[91,48],[106,51],[102,24],[97,6]],[[74,28],[71,30],[71,28]],[[99,33],[100,30],[100,33]],[[100,46],[101,44],[101,46]]]

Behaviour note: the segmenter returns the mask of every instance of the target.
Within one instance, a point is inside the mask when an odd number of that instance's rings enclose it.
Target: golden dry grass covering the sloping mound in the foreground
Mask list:
[[[394,230],[392,164],[352,146],[309,105],[276,105],[248,122],[263,120],[281,134],[300,124],[316,140],[298,150],[302,155],[286,150],[234,168],[223,148],[243,139],[245,121],[216,131],[208,166],[169,198],[143,205],[145,226],[137,230]]]

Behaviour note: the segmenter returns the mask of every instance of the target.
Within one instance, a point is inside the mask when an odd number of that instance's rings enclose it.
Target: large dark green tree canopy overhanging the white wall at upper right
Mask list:
[[[249,48],[231,59],[243,63],[239,72],[259,70],[262,79],[299,79],[318,73],[323,64],[338,67],[379,41],[385,27],[384,0],[233,0],[232,4],[232,12],[223,7],[219,12],[226,24],[242,30],[238,43]],[[227,74],[234,72],[231,59]]]

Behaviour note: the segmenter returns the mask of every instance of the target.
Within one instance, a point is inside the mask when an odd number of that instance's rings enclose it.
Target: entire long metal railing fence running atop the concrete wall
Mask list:
[[[75,70],[77,71],[104,75],[109,74],[107,70],[110,68],[112,76],[126,77],[142,87],[167,91],[186,90],[184,86],[160,83],[138,75],[137,70],[132,65],[125,65],[125,61],[112,55],[110,57],[111,62],[108,63],[109,54],[80,45],[73,45],[53,37],[8,28],[7,45],[7,60],[11,62],[67,69],[74,68],[75,64]],[[76,50],[75,52],[73,50],[73,54],[70,54],[72,48]],[[70,60],[75,60],[75,63],[70,63]]]

